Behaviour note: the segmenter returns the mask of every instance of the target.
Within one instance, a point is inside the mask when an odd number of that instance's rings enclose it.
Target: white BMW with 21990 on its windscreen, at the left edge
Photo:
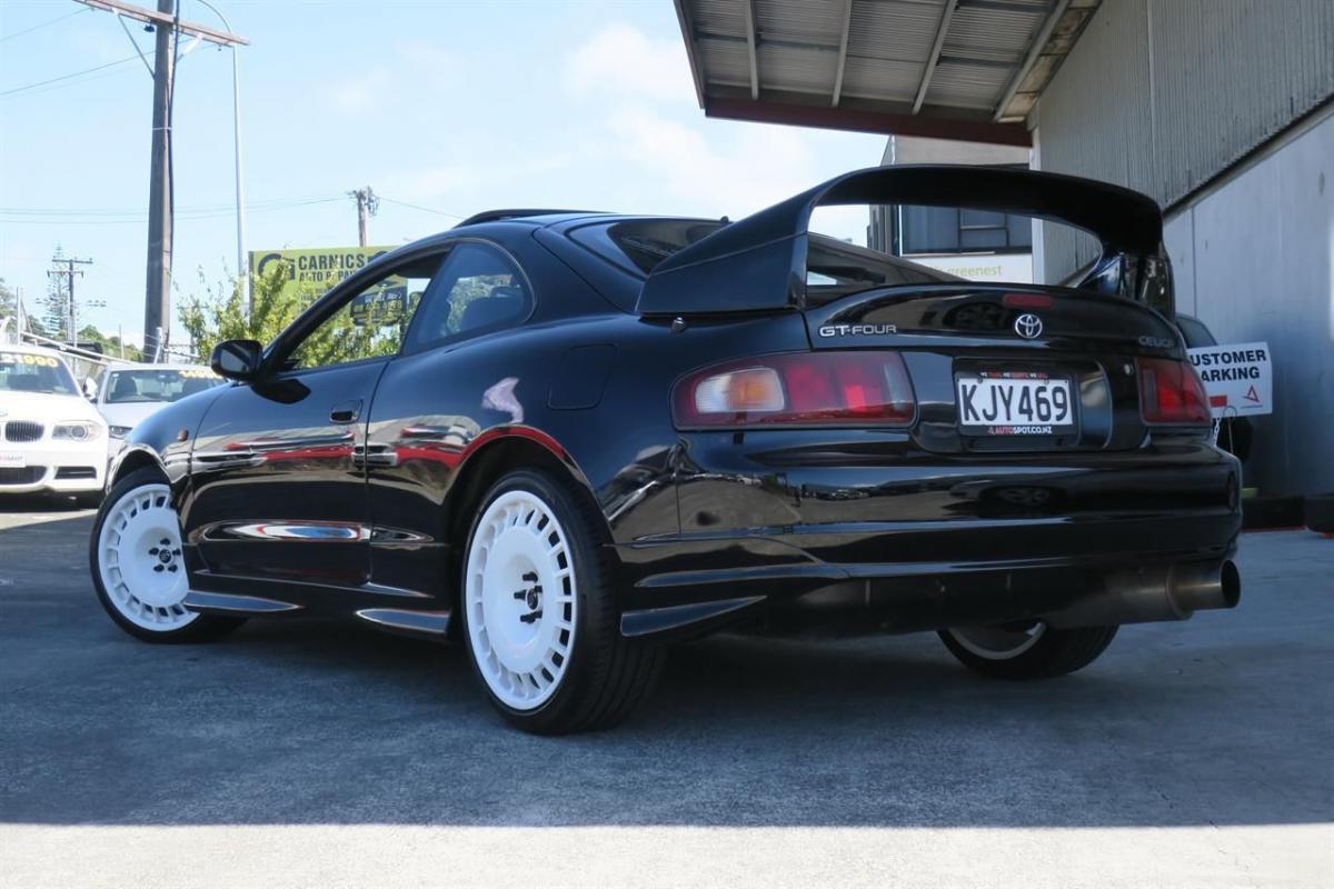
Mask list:
[[[73,494],[101,500],[107,423],[59,353],[0,345],[0,496]]]

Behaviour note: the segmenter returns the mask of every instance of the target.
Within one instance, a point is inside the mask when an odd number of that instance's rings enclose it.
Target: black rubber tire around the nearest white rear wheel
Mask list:
[[[556,688],[550,692],[550,697],[531,709],[516,709],[492,690],[479,664],[478,646],[482,642],[474,633],[476,617],[468,605],[467,577],[474,540],[491,505],[511,493],[534,494],[548,506],[564,530],[576,581],[568,664],[555,680]],[[472,517],[468,545],[460,558],[459,610],[463,613],[463,644],[468,649],[468,661],[478,685],[492,706],[515,728],[534,734],[606,729],[630,716],[656,684],[662,672],[660,648],[620,634],[615,569],[608,549],[603,545],[606,542],[606,522],[591,497],[572,484],[539,470],[516,470],[499,478]],[[547,610],[554,612],[551,604],[547,604]]]

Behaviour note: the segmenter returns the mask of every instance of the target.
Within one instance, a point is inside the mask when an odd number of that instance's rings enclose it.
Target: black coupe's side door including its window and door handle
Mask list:
[[[370,580],[368,407],[439,265],[432,251],[354,276],[275,340],[265,376],[213,403],[183,514],[187,545],[208,572],[192,581],[245,593],[245,578]]]

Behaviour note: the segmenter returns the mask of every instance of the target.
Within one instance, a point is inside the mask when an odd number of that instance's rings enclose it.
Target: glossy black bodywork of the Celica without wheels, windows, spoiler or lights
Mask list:
[[[626,295],[642,279],[568,237],[592,224],[579,215],[484,223],[404,248],[467,239],[504,251],[532,285],[520,327],[271,372],[145,421],[113,472],[152,458],[172,478],[196,590],[188,604],[324,609],[443,633],[470,510],[496,454],[540,456],[587,492],[606,520],[630,634],[706,629],[826,593],[880,605],[891,629],[1009,620],[1067,604],[1127,560],[1217,561],[1234,549],[1235,461],[1201,431],[1139,419],[1135,356],[1182,355],[1153,309],[1061,288],[1007,303],[1023,288],[962,284],[887,288],[806,313],[643,317],[618,308],[632,305]],[[1014,316],[1042,299],[1045,332],[1023,340]],[[838,324],[848,332],[818,335]],[[1171,347],[1146,347],[1145,336]],[[812,348],[900,351],[914,425],[674,427],[670,393],[688,372]],[[955,372],[1015,363],[1071,375],[1078,439],[960,436]],[[335,423],[350,403],[355,420]]]

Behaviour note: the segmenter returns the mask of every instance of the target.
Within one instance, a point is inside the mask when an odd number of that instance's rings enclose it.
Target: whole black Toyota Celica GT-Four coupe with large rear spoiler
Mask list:
[[[976,284],[808,231],[839,204],[1102,249],[1067,287]],[[458,640],[539,733],[619,721],[664,641],[734,625],[1070,673],[1239,597],[1239,466],[1173,317],[1158,207],[1050,173],[868,169],[739,221],[483,213],[220,344],[231,385],[116,457],[92,578],[148,641],[301,613]]]

